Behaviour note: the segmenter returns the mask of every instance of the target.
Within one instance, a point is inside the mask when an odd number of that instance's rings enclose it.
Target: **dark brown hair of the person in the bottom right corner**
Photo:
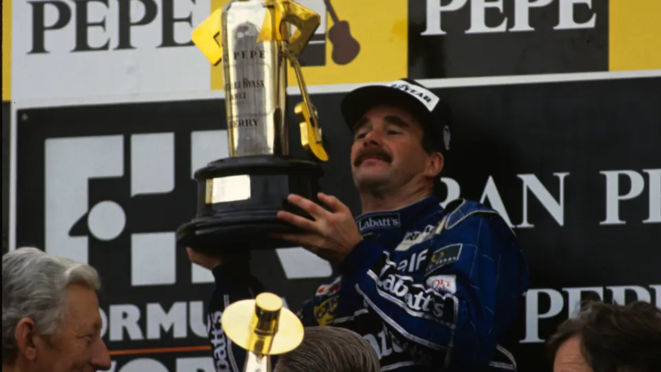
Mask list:
[[[565,341],[578,337],[583,358],[594,372],[659,371],[661,309],[642,301],[585,302],[582,308],[547,341],[551,360]]]

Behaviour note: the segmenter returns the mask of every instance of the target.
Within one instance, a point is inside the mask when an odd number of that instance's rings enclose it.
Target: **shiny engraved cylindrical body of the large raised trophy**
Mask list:
[[[240,8],[242,3],[233,4]],[[224,92],[231,156],[286,154],[286,81],[280,42],[257,42],[266,10],[228,17]],[[227,39],[226,39],[227,38]]]

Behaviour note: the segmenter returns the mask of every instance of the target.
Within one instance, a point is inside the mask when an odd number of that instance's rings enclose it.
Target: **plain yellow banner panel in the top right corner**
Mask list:
[[[661,68],[661,0],[610,0],[609,19],[609,70]]]

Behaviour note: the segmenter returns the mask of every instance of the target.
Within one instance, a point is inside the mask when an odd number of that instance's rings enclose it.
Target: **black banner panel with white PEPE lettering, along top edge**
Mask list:
[[[409,1],[408,76],[608,71],[608,1],[588,3]]]

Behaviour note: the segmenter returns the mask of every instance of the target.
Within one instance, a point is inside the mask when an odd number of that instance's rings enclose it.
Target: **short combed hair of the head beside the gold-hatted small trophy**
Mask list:
[[[273,372],[379,372],[370,342],[349,329],[306,327],[303,342],[280,355]]]

